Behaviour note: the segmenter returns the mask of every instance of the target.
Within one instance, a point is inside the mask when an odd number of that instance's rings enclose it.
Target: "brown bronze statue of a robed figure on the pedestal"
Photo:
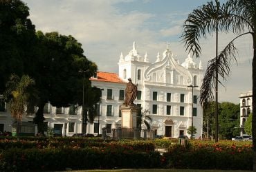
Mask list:
[[[134,100],[137,97],[137,86],[131,82],[131,78],[128,79],[129,82],[125,89],[125,106],[136,106]]]

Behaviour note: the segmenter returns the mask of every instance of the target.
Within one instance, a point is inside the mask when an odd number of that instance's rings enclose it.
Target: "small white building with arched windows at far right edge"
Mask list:
[[[240,128],[241,136],[247,135],[244,131],[244,125],[250,113],[253,113],[253,91],[250,90],[241,93],[240,96]]]

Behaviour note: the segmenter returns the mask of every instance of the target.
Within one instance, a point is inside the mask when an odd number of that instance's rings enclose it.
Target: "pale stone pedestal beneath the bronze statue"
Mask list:
[[[137,114],[140,107],[120,107],[122,114],[122,128],[137,128]]]

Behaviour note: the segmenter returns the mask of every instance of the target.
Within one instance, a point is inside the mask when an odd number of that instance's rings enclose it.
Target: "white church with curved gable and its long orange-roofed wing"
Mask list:
[[[107,127],[111,134],[111,129],[121,127],[119,107],[124,103],[125,87],[128,78],[131,78],[138,87],[134,103],[149,111],[155,134],[172,138],[189,136],[188,127],[193,120],[196,127],[194,138],[202,136],[203,109],[199,105],[199,88],[203,80],[201,61],[196,64],[188,55],[183,63],[179,63],[171,50],[164,50],[163,54],[158,53],[154,63],[150,63],[147,53],[140,56],[134,43],[126,56],[120,55],[118,66],[118,74],[97,72],[91,78],[92,85],[102,89],[102,97],[98,105],[100,116],[95,118],[93,124],[87,125],[87,133],[96,136],[102,133],[103,127]],[[188,87],[191,85],[198,87]],[[81,111],[81,107],[73,111],[73,107],[56,108],[47,104],[44,111],[46,125],[60,136],[81,133]],[[23,121],[32,122],[34,116],[24,115]],[[10,113],[0,111],[0,131],[11,131],[11,124]],[[30,130],[33,128],[30,127]]]

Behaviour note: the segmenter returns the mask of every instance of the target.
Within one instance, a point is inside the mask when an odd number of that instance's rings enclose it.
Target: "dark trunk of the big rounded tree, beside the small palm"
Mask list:
[[[37,113],[35,114],[34,123],[37,124],[38,133],[44,134],[44,105],[46,103],[39,103]]]

